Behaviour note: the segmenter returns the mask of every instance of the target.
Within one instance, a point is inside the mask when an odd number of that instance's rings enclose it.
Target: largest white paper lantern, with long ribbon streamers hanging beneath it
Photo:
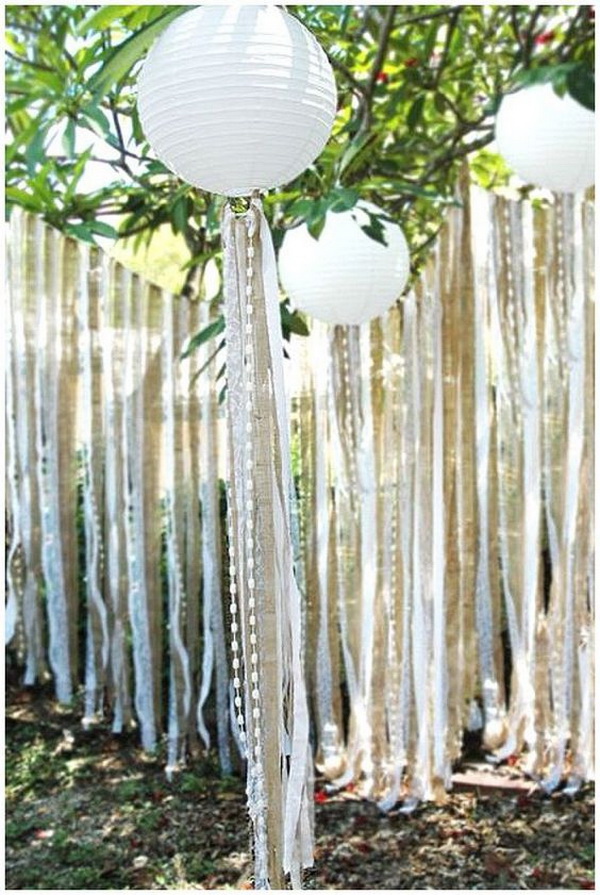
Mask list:
[[[183,180],[245,196],[288,183],[319,155],[335,81],[313,35],[283,10],[200,6],[151,49],[138,109],[152,148]]]

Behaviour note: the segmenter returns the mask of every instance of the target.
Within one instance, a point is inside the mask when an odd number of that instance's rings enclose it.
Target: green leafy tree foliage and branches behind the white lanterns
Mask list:
[[[135,103],[145,52],[187,9],[6,7],[6,198],[9,210],[21,205],[89,241],[141,243],[169,224],[185,240],[190,291],[218,251],[223,200],[182,183],[153,156]],[[402,222],[416,272],[455,201],[465,156],[487,185],[506,177],[486,148],[503,94],[551,80],[593,103],[590,6],[288,9],[328,53],[339,109],[321,156],[265,198],[276,244],[302,220],[318,236],[328,209],[363,197]],[[381,238],[376,218],[369,235]]]

